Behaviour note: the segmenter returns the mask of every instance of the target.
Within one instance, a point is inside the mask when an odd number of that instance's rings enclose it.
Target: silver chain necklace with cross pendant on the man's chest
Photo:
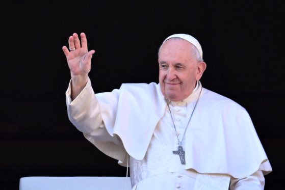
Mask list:
[[[201,90],[200,90],[200,92],[199,92],[199,96],[198,96],[198,99],[197,99],[197,101],[196,101],[196,103],[195,103],[195,106],[194,106],[194,108],[193,108],[193,111],[192,111],[192,113],[191,113],[190,119],[189,119],[189,121],[188,121],[188,123],[187,123],[187,125],[186,125],[185,130],[184,130],[183,137],[182,137],[182,140],[181,140],[181,141],[180,141],[179,138],[178,138],[178,133],[177,133],[177,130],[176,130],[176,127],[175,127],[175,124],[174,124],[174,120],[173,120],[173,116],[172,116],[172,113],[171,113],[171,110],[170,110],[170,107],[169,107],[169,102],[170,102],[170,101],[167,101],[167,106],[168,106],[168,109],[169,109],[169,113],[170,113],[170,116],[171,116],[171,120],[172,120],[174,129],[175,129],[175,133],[176,133],[176,137],[177,137],[177,141],[178,141],[178,150],[173,150],[172,153],[179,155],[181,164],[183,164],[183,165],[186,164],[186,161],[185,161],[185,151],[183,150],[182,142],[183,142],[183,140],[184,140],[184,138],[185,138],[186,130],[187,130],[188,126],[189,126],[189,123],[190,123],[191,118],[192,118],[192,116],[193,116],[194,110],[195,110],[196,105],[197,105],[197,103],[198,103],[198,101],[199,101],[201,92],[202,92],[202,87],[201,87]]]

